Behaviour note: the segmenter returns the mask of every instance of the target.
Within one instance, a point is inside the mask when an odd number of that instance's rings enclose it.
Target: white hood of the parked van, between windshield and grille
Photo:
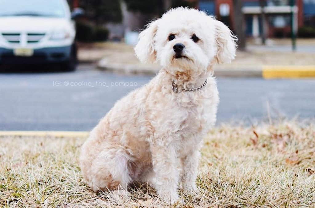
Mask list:
[[[12,16],[0,17],[0,32],[52,31],[72,28],[72,21],[66,18]]]

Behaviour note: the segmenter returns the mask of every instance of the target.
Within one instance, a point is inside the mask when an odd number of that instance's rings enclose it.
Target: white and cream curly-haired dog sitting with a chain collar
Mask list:
[[[147,25],[135,53],[162,69],[117,101],[83,144],[80,166],[93,191],[140,181],[167,203],[179,200],[179,183],[198,191],[199,150],[219,102],[212,69],[234,59],[235,41],[226,25],[196,9],[171,9]]]

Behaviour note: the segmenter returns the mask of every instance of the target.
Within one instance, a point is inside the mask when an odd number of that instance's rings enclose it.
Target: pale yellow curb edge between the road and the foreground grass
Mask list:
[[[0,131],[0,137],[88,137],[89,132],[60,132],[60,131]]]

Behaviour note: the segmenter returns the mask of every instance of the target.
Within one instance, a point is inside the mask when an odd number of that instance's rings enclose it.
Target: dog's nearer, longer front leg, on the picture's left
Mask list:
[[[179,199],[176,150],[172,145],[154,144],[151,152],[154,174],[150,183],[166,203],[175,203]]]

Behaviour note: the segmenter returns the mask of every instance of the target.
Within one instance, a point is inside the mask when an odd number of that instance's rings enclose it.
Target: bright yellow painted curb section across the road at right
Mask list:
[[[263,66],[262,77],[273,78],[310,78],[315,77],[314,66]]]

